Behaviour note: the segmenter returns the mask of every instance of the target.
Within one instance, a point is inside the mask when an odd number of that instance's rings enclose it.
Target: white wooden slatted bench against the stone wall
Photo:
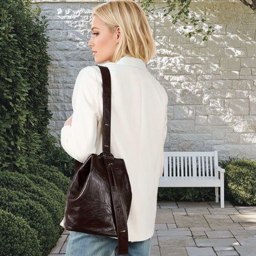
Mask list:
[[[215,187],[215,201],[224,208],[224,172],[218,152],[164,152],[164,172],[159,187]]]

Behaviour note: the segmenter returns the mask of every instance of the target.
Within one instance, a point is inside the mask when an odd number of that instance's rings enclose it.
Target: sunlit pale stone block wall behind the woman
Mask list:
[[[50,128],[59,134],[72,114],[79,70],[95,65],[87,46],[90,14],[102,1],[34,2],[49,20]],[[256,15],[233,0],[197,0],[191,10],[214,26],[208,41],[186,38],[161,12],[148,18],[158,47],[148,70],[169,95],[165,150],[218,150],[220,159],[256,160]]]

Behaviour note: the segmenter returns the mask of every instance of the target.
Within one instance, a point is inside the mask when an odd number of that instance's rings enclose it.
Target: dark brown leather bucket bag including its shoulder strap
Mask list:
[[[118,254],[128,254],[127,219],[132,201],[124,159],[110,153],[111,78],[106,66],[98,66],[103,81],[103,152],[76,161],[68,189],[66,230],[118,238]]]

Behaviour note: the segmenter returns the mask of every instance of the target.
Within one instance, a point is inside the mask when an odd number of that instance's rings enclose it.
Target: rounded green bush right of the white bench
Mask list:
[[[240,159],[226,166],[226,198],[235,204],[256,204],[256,162]]]

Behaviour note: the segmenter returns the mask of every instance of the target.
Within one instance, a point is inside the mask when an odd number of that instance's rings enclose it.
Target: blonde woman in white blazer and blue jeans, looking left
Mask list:
[[[111,153],[126,162],[132,187],[129,255],[150,255],[168,98],[146,70],[156,47],[143,10],[131,0],[96,6],[89,46],[95,62],[104,63],[111,74]],[[91,153],[102,152],[102,78],[97,66],[80,71],[72,103],[61,142],[70,156],[84,162]],[[117,255],[117,239],[71,231],[66,255],[109,256],[113,250]]]

